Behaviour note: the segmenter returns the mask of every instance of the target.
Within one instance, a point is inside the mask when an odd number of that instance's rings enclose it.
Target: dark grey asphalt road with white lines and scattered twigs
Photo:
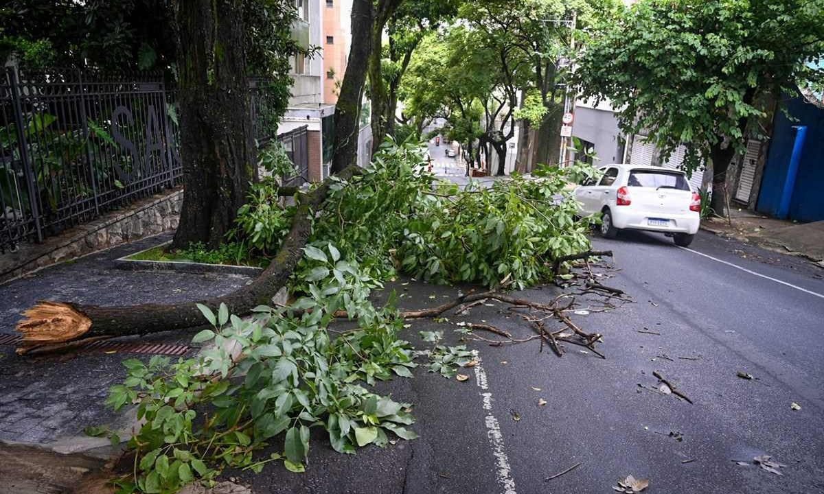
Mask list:
[[[414,379],[378,386],[414,403],[419,439],[352,456],[335,454],[316,434],[307,473],[275,465],[234,475],[255,492],[272,493],[613,492],[629,474],[648,478],[644,492],[651,494],[824,492],[824,272],[704,232],[693,251],[644,233],[596,239],[594,246],[614,251],[617,271],[608,284],[633,299],[611,312],[574,316],[605,335],[599,348],[606,360],[571,346],[559,358],[539,352],[536,342],[473,342],[481,365],[466,382],[420,367]],[[407,307],[456,292],[396,285],[404,288]],[[541,301],[556,293],[545,287],[522,295]],[[457,343],[452,323],[459,319],[530,334],[498,307],[448,317],[450,323],[416,322],[406,337],[426,347],[417,332],[438,329]],[[638,332],[644,328],[660,334]],[[658,384],[653,370],[694,404],[639,387]],[[790,408],[794,402],[800,410]],[[783,475],[751,464],[759,454],[785,464]]]

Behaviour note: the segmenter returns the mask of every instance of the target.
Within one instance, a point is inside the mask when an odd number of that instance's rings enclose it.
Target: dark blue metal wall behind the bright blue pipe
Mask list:
[[[798,221],[824,220],[824,110],[794,98],[787,110],[795,121],[783,112],[775,116],[770,151],[764,165],[761,192],[756,210],[775,216],[781,203],[784,181],[793,153],[798,125],[807,126],[798,176],[789,206],[789,219]]]

